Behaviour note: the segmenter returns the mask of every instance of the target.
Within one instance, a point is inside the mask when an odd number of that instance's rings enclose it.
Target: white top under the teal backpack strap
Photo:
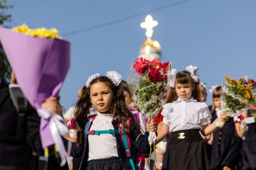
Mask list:
[[[97,113],[90,130],[114,129],[113,118],[110,114]],[[89,155],[88,160],[118,157],[117,139],[114,134],[88,135]]]

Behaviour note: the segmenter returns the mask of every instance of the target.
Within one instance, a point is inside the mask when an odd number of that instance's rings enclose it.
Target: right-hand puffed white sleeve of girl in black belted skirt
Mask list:
[[[198,106],[198,113],[201,127],[211,123],[212,116],[210,114],[208,105],[205,102],[201,102]]]

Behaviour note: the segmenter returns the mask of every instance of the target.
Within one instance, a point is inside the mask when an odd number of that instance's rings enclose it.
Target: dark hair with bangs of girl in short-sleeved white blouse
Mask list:
[[[192,86],[192,96],[197,99],[197,101],[201,102],[201,90],[200,90],[200,81],[195,83],[193,78],[190,75],[189,71],[180,71],[175,75],[175,82],[180,84],[191,84]],[[169,95],[166,98],[166,103],[174,102],[178,99],[178,95],[175,91],[175,88],[171,88]]]

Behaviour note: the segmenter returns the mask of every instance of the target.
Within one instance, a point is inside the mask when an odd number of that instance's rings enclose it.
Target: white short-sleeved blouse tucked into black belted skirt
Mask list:
[[[202,129],[211,123],[212,116],[205,102],[198,102],[194,98],[163,105],[163,123],[169,127],[169,132],[186,129]]]

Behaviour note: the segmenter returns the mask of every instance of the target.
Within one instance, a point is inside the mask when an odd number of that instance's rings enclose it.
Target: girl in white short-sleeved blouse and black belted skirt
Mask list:
[[[221,116],[210,124],[212,116],[205,102],[201,102],[200,81],[197,67],[175,74],[172,88],[163,105],[163,125],[157,142],[168,138],[168,169],[209,169],[204,142],[206,136],[216,130],[227,116]]]

